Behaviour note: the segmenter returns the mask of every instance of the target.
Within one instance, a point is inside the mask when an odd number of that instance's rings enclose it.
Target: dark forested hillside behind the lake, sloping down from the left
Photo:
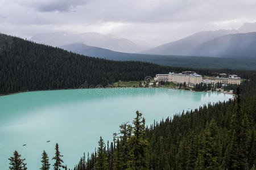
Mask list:
[[[0,34],[0,94],[20,91],[106,86],[118,80],[144,80],[146,76],[184,71],[190,68],[160,66],[146,62],[110,61],[86,57],[60,48],[36,44]],[[199,74],[237,74],[249,78],[254,71],[193,69]]]

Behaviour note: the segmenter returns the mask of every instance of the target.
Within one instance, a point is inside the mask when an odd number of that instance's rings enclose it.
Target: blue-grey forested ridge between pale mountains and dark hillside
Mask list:
[[[196,68],[229,68],[256,70],[256,58],[220,58],[196,56],[164,56],[121,53],[84,44],[69,44],[61,48],[85,56],[113,59],[115,61],[144,61],[159,65]]]

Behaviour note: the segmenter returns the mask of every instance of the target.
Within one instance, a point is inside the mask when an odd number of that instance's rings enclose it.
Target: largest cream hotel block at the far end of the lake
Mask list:
[[[195,86],[202,82],[202,76],[196,73],[193,74],[156,74],[154,78],[155,82],[174,82],[174,83],[186,83],[189,86]]]

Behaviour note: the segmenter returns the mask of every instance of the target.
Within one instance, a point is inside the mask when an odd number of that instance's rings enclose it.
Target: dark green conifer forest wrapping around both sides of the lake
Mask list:
[[[157,73],[190,70],[85,57],[3,34],[0,35],[0,63],[1,94],[78,88],[85,81],[89,86],[106,86],[118,80],[143,80]],[[120,125],[113,141],[104,142],[99,137],[96,151],[82,155],[72,169],[255,169],[255,71],[193,71],[203,75],[237,74],[246,80],[240,87],[234,87],[236,100],[208,104],[160,122],[150,122],[148,127],[142,113],[137,112],[132,122]],[[52,158],[55,164],[51,167],[68,169],[57,144],[55,150]],[[48,159],[43,152],[41,169],[49,169]],[[25,160],[18,152],[9,160],[10,169],[26,169]]]

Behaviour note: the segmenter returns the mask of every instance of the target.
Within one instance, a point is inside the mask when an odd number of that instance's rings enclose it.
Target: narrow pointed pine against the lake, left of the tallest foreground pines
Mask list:
[[[100,141],[98,141],[98,148],[97,148],[97,159],[96,159],[96,169],[98,170],[106,170],[108,169],[108,158],[106,155],[106,147],[105,143],[100,137]]]

